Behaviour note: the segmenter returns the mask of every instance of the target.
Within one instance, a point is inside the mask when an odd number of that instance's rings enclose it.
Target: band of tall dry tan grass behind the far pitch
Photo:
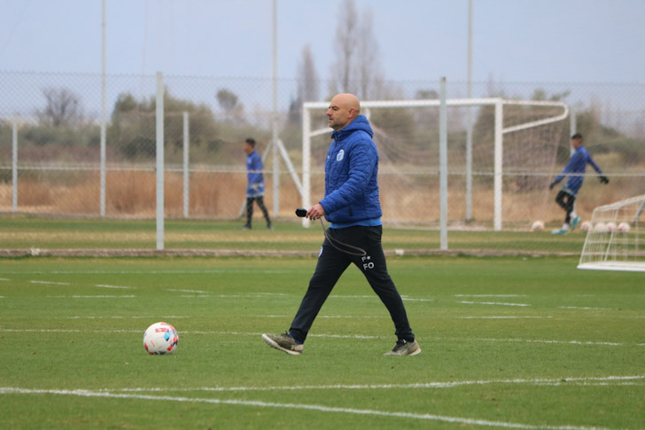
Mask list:
[[[49,180],[48,180],[49,179]],[[108,216],[154,217],[156,214],[156,176],[152,171],[108,172],[106,177],[106,214]],[[295,207],[302,206],[291,177],[280,177],[281,216],[291,217]],[[577,211],[588,219],[594,207],[626,199],[643,192],[640,176],[623,176],[603,186],[594,177],[587,178],[579,193]],[[48,215],[98,215],[99,176],[97,172],[58,177],[19,179],[19,212]],[[401,223],[435,223],[439,221],[439,181],[436,176],[381,176],[381,202],[385,220]],[[448,218],[459,223],[466,215],[465,190],[461,178],[449,178]],[[473,185],[472,213],[475,224],[490,227],[493,220],[492,179]],[[506,190],[510,185],[505,184]],[[165,176],[165,208],[168,217],[183,216],[183,176]],[[195,218],[235,219],[245,203],[246,177],[242,173],[196,172],[190,176],[190,216]],[[323,178],[312,180],[312,199],[323,194]],[[502,197],[505,227],[525,228],[534,220],[561,223],[563,211],[554,199],[556,190],[506,192]],[[273,188],[267,175],[265,202],[273,213]],[[0,211],[12,211],[12,185],[0,184]],[[256,208],[254,216],[261,218]]]

